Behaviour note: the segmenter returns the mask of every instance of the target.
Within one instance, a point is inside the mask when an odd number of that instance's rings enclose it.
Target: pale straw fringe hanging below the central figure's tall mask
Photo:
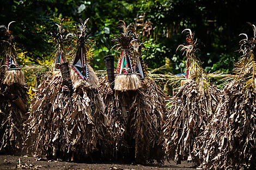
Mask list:
[[[136,74],[119,74],[115,76],[114,90],[137,90],[141,87],[141,80]]]

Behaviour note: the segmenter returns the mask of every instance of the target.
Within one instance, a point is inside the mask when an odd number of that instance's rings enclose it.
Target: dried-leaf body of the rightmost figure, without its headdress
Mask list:
[[[198,138],[194,152],[206,169],[256,168],[256,93],[242,93],[233,81],[221,93],[216,115]],[[200,147],[199,147],[200,146]]]

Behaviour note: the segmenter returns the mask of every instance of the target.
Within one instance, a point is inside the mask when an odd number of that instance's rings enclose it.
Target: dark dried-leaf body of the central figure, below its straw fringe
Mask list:
[[[164,155],[159,138],[166,116],[165,95],[153,80],[145,79],[136,91],[114,91],[107,94],[107,76],[100,81],[100,94],[106,104],[108,126],[114,147],[111,154],[116,161],[163,163]]]

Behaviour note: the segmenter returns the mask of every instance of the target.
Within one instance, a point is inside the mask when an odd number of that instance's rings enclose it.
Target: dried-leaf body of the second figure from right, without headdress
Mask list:
[[[163,127],[168,160],[196,160],[192,154],[196,137],[206,129],[218,104],[216,86],[202,90],[196,81],[188,81],[169,99],[167,120]]]

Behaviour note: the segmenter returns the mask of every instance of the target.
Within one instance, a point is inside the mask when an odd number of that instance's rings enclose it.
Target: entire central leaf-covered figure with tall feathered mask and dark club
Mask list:
[[[123,32],[114,40],[114,47],[121,51],[116,74],[113,55],[106,56],[108,77],[99,86],[114,141],[111,153],[116,161],[161,163],[163,153],[158,142],[165,118],[165,95],[148,78],[141,58],[143,43],[139,43],[134,27],[121,22]],[[107,93],[108,87],[113,95]]]

